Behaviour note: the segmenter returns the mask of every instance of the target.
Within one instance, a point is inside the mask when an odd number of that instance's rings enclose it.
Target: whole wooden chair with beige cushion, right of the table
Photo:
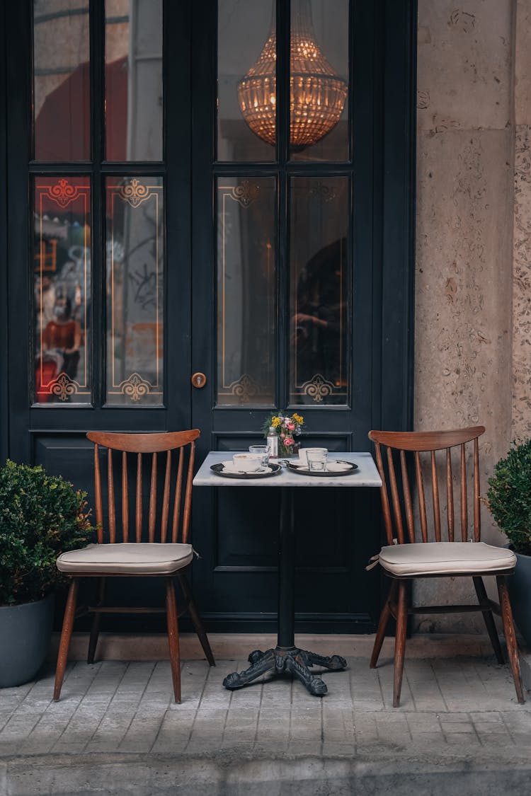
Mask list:
[[[392,697],[395,708],[400,704],[408,614],[467,611],[482,611],[494,653],[498,662],[503,663],[493,611],[501,614],[517,699],[520,703],[524,702],[513,613],[506,586],[506,575],[513,572],[516,556],[506,548],[484,544],[480,540],[478,437],[484,431],[485,427],[476,426],[456,431],[369,432],[369,439],[372,439],[376,446],[377,466],[383,482],[381,505],[388,543],[381,548],[379,561],[385,574],[392,578],[388,599],[378,623],[370,666],[373,669],[377,665],[385,628],[389,618],[393,616],[396,618]],[[472,443],[469,447],[473,448],[471,478],[467,477],[467,443]],[[425,455],[421,456],[423,451]],[[439,461],[435,457],[435,451],[445,451],[445,454],[439,454]],[[396,468],[399,470],[400,480],[396,477]],[[453,469],[460,470],[458,498],[460,532],[459,529],[455,529]],[[428,471],[428,488],[424,486],[423,470]],[[412,481],[416,483],[418,509],[413,505],[413,490],[410,486],[412,474],[414,474]],[[443,490],[439,490],[439,482],[443,482]],[[469,502],[472,509],[470,542],[474,544],[466,544],[469,541]],[[428,521],[430,503],[433,513],[432,524]],[[444,511],[447,514],[445,523],[447,541],[442,540],[444,531],[441,516]],[[418,532],[416,525],[420,525],[420,537],[416,535],[416,531]],[[486,575],[496,577],[499,605],[488,599],[486,595],[482,580],[482,576]],[[413,607],[408,604],[410,593],[408,583],[412,579],[442,576],[451,578],[471,576],[478,596],[478,605]]]

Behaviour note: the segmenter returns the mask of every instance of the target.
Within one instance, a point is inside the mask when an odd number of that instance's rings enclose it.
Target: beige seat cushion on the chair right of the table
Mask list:
[[[500,572],[516,566],[511,550],[484,542],[420,542],[381,548],[380,564],[392,575],[460,575]]]

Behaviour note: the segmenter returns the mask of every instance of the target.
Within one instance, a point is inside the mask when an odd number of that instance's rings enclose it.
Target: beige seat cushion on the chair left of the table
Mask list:
[[[191,544],[89,544],[63,552],[57,559],[61,572],[104,572],[107,575],[171,575],[193,558]]]

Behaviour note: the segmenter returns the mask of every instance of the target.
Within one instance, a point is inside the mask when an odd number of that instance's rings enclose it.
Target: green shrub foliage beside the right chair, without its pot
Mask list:
[[[531,556],[531,439],[513,443],[494,467],[486,503],[513,549]]]

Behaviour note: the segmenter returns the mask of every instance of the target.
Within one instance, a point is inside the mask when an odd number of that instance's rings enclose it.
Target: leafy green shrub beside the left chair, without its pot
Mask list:
[[[0,467],[0,605],[41,599],[64,580],[57,556],[91,537],[86,494],[41,466]]]

